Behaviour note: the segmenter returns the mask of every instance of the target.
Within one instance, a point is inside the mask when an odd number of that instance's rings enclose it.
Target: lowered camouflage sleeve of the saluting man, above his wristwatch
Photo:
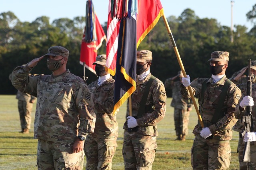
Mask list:
[[[80,121],[78,136],[86,137],[89,133],[94,132],[96,115],[91,96],[87,85],[85,83],[81,84],[76,95],[76,107]]]

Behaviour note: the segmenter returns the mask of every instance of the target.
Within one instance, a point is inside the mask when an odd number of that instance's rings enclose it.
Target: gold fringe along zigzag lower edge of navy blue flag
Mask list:
[[[134,81],[128,74],[126,74],[126,71],[122,66],[121,66],[121,72],[124,75],[124,78],[130,84],[132,84],[132,87],[129,90],[127,90],[127,92],[122,96],[122,98],[120,98],[118,102],[116,102],[114,106],[113,114],[116,113],[116,110],[119,109],[119,107],[122,106],[122,104],[124,104],[124,102],[128,99],[128,97],[131,96],[132,93],[136,90],[136,81]]]

